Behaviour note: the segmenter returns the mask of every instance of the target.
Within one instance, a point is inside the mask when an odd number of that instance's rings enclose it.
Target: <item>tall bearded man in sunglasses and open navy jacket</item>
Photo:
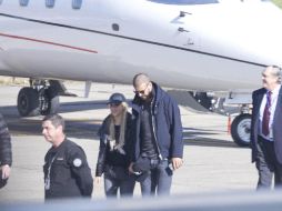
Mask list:
[[[144,73],[133,79],[134,147],[130,171],[141,173],[142,195],[169,194],[182,165],[182,123],[177,102]]]

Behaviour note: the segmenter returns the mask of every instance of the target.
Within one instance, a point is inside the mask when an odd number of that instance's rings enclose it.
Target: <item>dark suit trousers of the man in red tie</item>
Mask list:
[[[282,188],[282,164],[279,163],[273,141],[268,141],[262,137],[258,139],[258,157],[255,165],[259,172],[256,190],[271,189],[274,174],[274,188]]]

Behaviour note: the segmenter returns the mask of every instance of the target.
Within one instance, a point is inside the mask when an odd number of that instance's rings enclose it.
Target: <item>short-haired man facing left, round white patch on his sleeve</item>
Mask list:
[[[59,114],[47,115],[42,134],[52,144],[43,165],[46,199],[87,197],[93,190],[93,179],[82,148],[68,140],[64,120]]]

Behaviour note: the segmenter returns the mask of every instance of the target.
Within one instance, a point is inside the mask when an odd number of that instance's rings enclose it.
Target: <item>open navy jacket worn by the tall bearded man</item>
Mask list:
[[[152,82],[155,92],[152,104],[153,131],[161,159],[182,158],[183,140],[182,123],[179,107],[158,84]],[[133,162],[137,161],[141,153],[140,141],[140,112],[142,110],[142,100],[135,94],[132,101],[132,119],[134,125],[134,148],[132,150]]]

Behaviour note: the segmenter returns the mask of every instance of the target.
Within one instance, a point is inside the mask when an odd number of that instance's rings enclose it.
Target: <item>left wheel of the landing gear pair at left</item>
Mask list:
[[[33,117],[40,113],[39,93],[32,88],[22,88],[18,94],[18,111],[21,117]]]

